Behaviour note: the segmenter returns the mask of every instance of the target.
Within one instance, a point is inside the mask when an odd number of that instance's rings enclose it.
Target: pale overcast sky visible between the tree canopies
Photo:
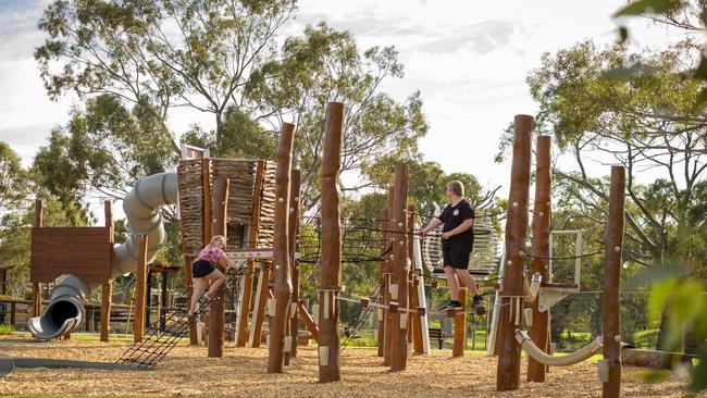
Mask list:
[[[42,35],[36,24],[48,1],[0,0],[0,140],[32,162],[52,127],[64,124],[75,99],[50,101],[33,59]],[[468,172],[482,185],[507,185],[508,164],[495,164],[498,137],[519,113],[534,114],[536,103],[524,83],[542,53],[585,39],[617,38],[611,18],[625,1],[444,1],[305,0],[283,35],[325,21],[351,32],[361,50],[398,49],[402,79],[384,91],[404,100],[422,91],[430,133],[421,142],[425,160],[447,173]],[[674,38],[645,21],[631,23],[634,48]],[[210,119],[179,111],[170,115],[176,133],[191,123],[211,128]],[[608,172],[608,167],[607,167]]]

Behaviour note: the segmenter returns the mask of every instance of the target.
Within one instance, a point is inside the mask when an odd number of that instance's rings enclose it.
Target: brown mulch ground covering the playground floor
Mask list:
[[[39,357],[113,362],[128,343],[66,340],[49,345],[3,345],[13,357]],[[596,365],[581,363],[554,368],[546,383],[525,383],[521,389],[497,394],[496,358],[450,351],[412,357],[408,369],[390,373],[372,349],[346,349],[342,355],[342,382],[318,384],[317,350],[300,348],[285,374],[268,374],[266,349],[225,349],[224,358],[207,358],[204,347],[178,345],[153,371],[80,369],[17,369],[0,381],[0,395],[80,396],[200,396],[210,397],[598,397],[601,383]],[[627,397],[681,397],[684,381],[671,374],[647,384],[645,369],[624,366],[622,391]]]

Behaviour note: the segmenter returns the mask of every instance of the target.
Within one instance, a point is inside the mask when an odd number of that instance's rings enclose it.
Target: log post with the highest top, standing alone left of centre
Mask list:
[[[344,104],[326,104],[322,157],[322,270],[319,286],[319,382],[342,380],[337,299],[342,283],[342,231],[338,173],[342,169]]]

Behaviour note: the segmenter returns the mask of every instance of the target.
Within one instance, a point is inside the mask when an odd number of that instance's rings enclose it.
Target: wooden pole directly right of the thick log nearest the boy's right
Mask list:
[[[533,207],[533,248],[531,259],[531,275],[539,273],[543,282],[548,281],[548,260],[550,256],[550,225],[553,221],[551,206],[551,171],[550,171],[550,137],[537,137],[537,158],[535,162],[535,204]],[[539,300],[533,302],[533,325],[530,336],[543,350],[549,353],[549,310],[539,312]],[[532,357],[528,357],[528,381],[545,382],[546,366]]]

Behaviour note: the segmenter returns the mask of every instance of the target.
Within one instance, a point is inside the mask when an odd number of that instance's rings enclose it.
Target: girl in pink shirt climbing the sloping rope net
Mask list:
[[[215,264],[221,265],[224,270],[228,270],[233,264],[226,259],[223,249],[226,247],[225,238],[221,235],[215,235],[211,238],[211,242],[207,245],[197,259],[191,263],[191,277],[194,279],[194,293],[191,294],[191,304],[187,318],[190,318],[197,311],[197,303],[201,291],[203,291],[204,281],[211,281],[209,291],[204,296],[209,300],[216,297],[216,291],[226,281],[225,275]]]

